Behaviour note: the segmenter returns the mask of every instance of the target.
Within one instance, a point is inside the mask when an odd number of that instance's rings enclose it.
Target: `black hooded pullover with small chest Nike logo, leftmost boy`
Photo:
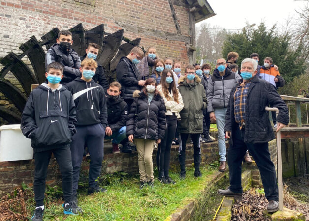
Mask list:
[[[76,112],[71,93],[60,86],[52,91],[42,83],[32,90],[24,108],[21,130],[31,138],[36,152],[55,149],[71,142]]]

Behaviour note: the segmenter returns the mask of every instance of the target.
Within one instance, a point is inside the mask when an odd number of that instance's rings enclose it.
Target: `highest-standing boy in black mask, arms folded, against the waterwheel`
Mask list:
[[[81,76],[81,72],[79,70],[81,60],[77,53],[71,49],[73,40],[72,33],[70,31],[60,31],[56,42],[57,44],[50,47],[45,55],[45,68],[47,71],[47,66],[54,61],[61,63],[64,66],[61,84],[66,85],[75,78]]]

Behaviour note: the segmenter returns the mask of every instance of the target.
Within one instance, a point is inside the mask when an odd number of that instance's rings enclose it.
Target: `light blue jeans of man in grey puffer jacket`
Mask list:
[[[215,108],[214,112],[216,116],[216,125],[218,127],[218,146],[220,161],[226,161],[226,146],[224,133],[226,108]]]

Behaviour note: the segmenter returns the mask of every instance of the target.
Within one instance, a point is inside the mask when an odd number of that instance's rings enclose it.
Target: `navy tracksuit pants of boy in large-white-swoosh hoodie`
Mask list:
[[[90,165],[88,174],[89,187],[97,184],[97,178],[100,176],[103,162],[105,128],[102,124],[93,124],[87,126],[76,126],[76,134],[72,136],[70,145],[73,165],[73,194],[78,188],[78,179],[83,161],[85,144],[88,147],[90,155]]]

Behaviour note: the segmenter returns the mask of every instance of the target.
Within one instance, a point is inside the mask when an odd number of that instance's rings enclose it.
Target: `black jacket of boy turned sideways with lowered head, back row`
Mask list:
[[[133,92],[140,90],[140,74],[135,64],[127,57],[122,57],[116,67],[116,78],[121,84],[124,99],[133,99]]]

